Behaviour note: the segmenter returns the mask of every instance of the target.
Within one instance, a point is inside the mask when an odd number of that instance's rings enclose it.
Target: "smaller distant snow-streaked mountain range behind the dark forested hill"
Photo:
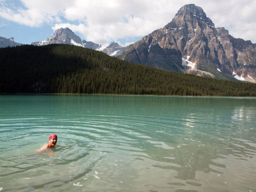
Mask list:
[[[99,45],[86,40],[81,40],[71,29],[57,29],[52,36],[42,42],[33,42],[31,45],[49,45],[49,44],[67,44],[77,45],[79,47],[89,48],[97,51],[105,52],[110,56],[118,56],[125,51],[126,47],[121,47],[117,43]]]

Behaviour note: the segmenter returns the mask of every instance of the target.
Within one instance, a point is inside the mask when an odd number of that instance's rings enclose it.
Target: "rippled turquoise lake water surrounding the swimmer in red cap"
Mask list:
[[[256,98],[0,95],[0,142],[0,191],[256,191]]]

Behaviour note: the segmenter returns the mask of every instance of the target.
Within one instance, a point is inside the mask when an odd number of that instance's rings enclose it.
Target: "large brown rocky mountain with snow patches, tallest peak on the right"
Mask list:
[[[256,83],[256,44],[215,28],[195,4],[182,6],[170,23],[129,45],[120,58],[164,70]]]

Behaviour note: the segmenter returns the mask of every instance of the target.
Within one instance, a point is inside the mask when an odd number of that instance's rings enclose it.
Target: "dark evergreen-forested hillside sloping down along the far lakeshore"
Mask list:
[[[22,45],[0,49],[0,93],[255,97],[256,84],[167,72],[74,45]]]

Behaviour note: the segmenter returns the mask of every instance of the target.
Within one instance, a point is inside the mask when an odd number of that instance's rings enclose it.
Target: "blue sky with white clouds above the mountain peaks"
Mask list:
[[[185,4],[202,7],[216,28],[256,43],[255,0],[0,0],[0,36],[31,44],[68,27],[82,40],[125,46],[163,28]]]

